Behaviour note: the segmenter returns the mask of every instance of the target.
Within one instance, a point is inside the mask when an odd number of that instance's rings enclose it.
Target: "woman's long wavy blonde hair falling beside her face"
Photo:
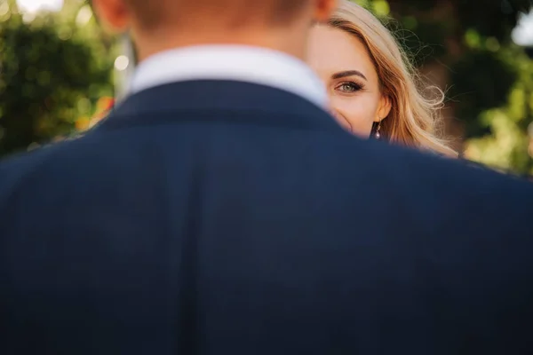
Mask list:
[[[381,122],[380,133],[389,141],[439,154],[456,156],[442,138],[439,109],[444,95],[436,87],[423,86],[405,51],[376,16],[358,4],[340,0],[329,26],[356,36],[374,62],[382,94],[391,100],[391,111]],[[434,89],[436,99],[426,90]]]

